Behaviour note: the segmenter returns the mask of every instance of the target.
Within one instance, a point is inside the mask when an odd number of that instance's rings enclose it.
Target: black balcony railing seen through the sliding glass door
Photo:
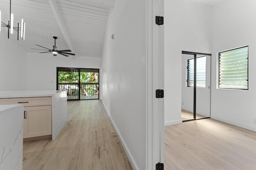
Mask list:
[[[98,83],[58,83],[59,90],[67,90],[68,100],[98,99],[99,84]],[[80,95],[79,94],[80,88]]]

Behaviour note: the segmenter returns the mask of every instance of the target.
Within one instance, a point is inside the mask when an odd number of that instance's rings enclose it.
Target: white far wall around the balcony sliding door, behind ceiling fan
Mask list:
[[[57,67],[101,68],[100,57],[53,57],[52,54],[28,53],[27,61],[27,90],[56,90]]]

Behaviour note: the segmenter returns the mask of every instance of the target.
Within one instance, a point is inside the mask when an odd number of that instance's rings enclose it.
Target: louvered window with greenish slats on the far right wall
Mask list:
[[[248,90],[248,46],[219,53],[219,88]]]

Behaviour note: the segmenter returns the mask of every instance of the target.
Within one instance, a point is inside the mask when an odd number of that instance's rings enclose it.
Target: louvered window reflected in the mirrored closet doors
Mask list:
[[[194,59],[188,59],[187,86],[194,87]],[[205,88],[206,56],[196,58],[196,87]]]

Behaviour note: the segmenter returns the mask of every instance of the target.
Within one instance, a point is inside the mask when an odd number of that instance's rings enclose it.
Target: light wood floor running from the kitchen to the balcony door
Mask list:
[[[68,101],[58,138],[27,141],[23,170],[132,170],[100,100]]]

